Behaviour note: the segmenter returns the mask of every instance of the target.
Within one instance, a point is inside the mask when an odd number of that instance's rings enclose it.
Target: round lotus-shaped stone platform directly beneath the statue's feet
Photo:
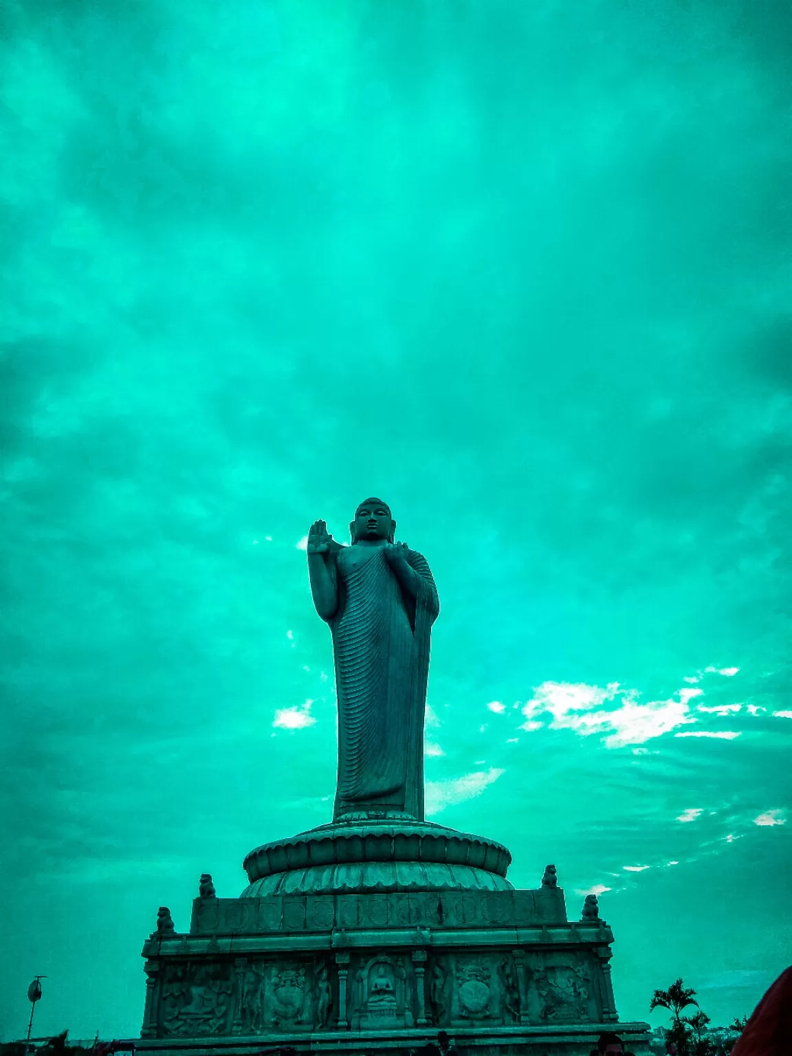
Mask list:
[[[510,891],[510,863],[502,844],[432,822],[336,823],[250,851],[250,883],[240,897]]]

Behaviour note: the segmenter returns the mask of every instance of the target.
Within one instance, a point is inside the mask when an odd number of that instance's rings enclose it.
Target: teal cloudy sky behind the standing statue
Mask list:
[[[5,0],[0,1036],[327,821],[301,541],[441,612],[430,816],[600,891],[623,1018],[792,960],[792,5]],[[329,675],[329,678],[327,677]],[[653,1022],[662,1022],[658,1014]]]

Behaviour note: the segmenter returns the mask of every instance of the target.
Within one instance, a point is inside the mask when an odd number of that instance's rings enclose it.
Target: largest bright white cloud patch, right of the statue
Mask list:
[[[606,734],[608,748],[641,744],[652,737],[696,720],[690,714],[689,701],[700,696],[701,690],[678,690],[667,700],[640,703],[636,690],[623,690],[618,682],[604,689],[599,685],[569,682],[543,682],[534,690],[533,699],[523,708],[526,722],[523,730],[535,730],[538,716],[552,716],[553,730],[574,730],[583,736]],[[618,706],[608,706],[611,701]]]

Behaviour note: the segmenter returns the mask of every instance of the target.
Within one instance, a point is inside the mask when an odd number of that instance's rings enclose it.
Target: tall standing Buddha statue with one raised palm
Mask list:
[[[333,634],[338,700],[334,821],[423,819],[423,715],[437,589],[422,554],[395,543],[396,522],[366,498],[350,525],[352,546],[308,533],[310,590]]]

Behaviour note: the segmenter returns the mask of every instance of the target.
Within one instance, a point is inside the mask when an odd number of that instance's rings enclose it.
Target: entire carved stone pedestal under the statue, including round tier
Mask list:
[[[506,848],[427,823],[324,826],[245,860],[239,899],[196,899],[189,935],[146,942],[137,1048],[401,1052],[446,1030],[461,1054],[587,1056],[617,1030],[612,934],[559,887],[514,890]]]

